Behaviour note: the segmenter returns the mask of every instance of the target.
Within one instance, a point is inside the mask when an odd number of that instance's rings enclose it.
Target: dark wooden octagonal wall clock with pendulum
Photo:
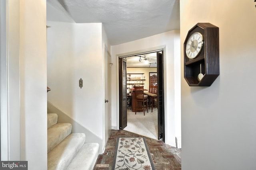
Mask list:
[[[219,28],[197,23],[184,41],[184,78],[189,86],[211,86],[219,74]]]

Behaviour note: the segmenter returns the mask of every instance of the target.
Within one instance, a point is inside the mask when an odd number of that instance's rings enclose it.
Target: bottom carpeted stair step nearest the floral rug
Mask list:
[[[67,170],[92,170],[98,158],[99,147],[98,143],[85,143]]]

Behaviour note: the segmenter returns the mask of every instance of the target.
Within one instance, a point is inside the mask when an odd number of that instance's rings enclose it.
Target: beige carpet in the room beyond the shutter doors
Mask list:
[[[145,137],[150,137],[152,139],[158,139],[158,111],[157,108],[148,109],[143,112],[132,112],[127,109],[127,127],[124,128],[126,131],[143,135]]]

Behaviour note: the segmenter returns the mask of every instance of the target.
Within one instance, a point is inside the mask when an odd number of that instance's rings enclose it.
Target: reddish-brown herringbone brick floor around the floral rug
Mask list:
[[[98,156],[94,170],[112,170],[118,137],[142,136],[124,130],[111,130],[105,152]],[[171,147],[162,141],[145,138],[156,170],[181,170],[181,149]]]

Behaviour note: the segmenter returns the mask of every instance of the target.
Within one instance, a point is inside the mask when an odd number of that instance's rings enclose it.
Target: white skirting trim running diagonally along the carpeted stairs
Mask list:
[[[86,143],[98,143],[100,145],[99,154],[104,152],[102,139],[100,137],[81,125],[76,120],[69,117],[64,111],[60,110],[50,102],[47,102],[47,113],[56,113],[58,115],[58,123],[70,123],[72,125],[71,133],[84,133],[86,135]]]

